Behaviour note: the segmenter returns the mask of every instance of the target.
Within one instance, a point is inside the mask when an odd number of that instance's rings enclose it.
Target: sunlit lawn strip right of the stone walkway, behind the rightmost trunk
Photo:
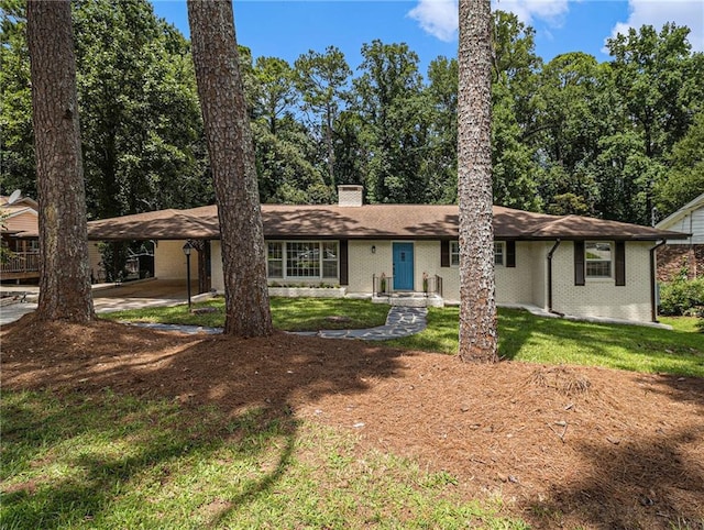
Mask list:
[[[704,334],[697,332],[695,320],[668,319],[667,323],[675,328],[670,331],[640,325],[575,322],[536,317],[528,311],[499,309],[498,350],[503,358],[516,361],[704,377]],[[430,308],[426,331],[388,341],[388,344],[455,353],[458,322],[458,308]]]

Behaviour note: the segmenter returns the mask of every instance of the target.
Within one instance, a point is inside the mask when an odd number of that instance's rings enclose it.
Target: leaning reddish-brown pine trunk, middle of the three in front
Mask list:
[[[188,0],[194,63],[218,203],[224,333],[272,334],[264,229],[231,0]]]

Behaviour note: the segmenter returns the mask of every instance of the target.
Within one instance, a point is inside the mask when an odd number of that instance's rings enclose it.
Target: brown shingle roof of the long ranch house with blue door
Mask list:
[[[362,207],[263,205],[266,239],[457,239],[459,209],[437,205]],[[679,232],[580,216],[548,216],[494,207],[494,235],[507,240],[684,239]],[[91,240],[219,239],[216,206],[102,219]]]

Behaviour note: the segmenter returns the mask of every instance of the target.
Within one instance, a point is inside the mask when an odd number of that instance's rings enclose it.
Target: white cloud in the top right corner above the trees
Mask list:
[[[691,30],[692,49],[704,52],[704,4],[701,0],[628,0],[628,20],[614,26],[612,37],[618,33],[628,34],[629,27],[638,30],[648,24],[660,31],[667,22],[674,22]]]

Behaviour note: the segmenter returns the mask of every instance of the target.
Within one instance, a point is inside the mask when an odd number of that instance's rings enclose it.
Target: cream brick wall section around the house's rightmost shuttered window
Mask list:
[[[626,243],[626,285],[590,279],[574,285],[574,244],[562,242],[553,258],[552,309],[565,314],[647,322],[650,313],[650,254],[648,242]]]

